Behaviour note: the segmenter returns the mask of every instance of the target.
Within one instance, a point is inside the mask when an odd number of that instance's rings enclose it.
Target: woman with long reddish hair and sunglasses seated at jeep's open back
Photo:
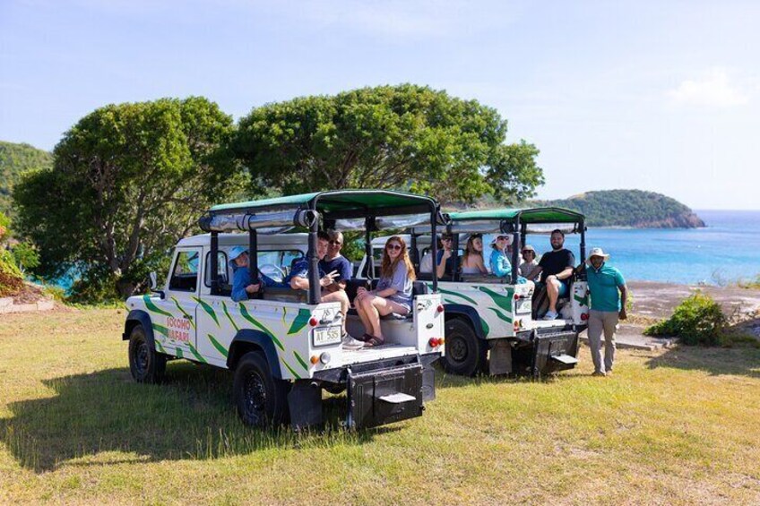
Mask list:
[[[366,347],[380,346],[385,342],[380,328],[380,316],[390,313],[409,314],[414,266],[409,258],[406,243],[401,236],[392,236],[385,242],[380,279],[374,290],[359,287],[354,305],[365,334]]]

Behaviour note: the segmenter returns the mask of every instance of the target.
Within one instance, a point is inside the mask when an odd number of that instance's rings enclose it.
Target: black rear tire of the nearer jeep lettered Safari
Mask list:
[[[289,382],[272,378],[262,353],[246,353],[235,368],[232,386],[240,419],[259,428],[287,423],[289,386]]]

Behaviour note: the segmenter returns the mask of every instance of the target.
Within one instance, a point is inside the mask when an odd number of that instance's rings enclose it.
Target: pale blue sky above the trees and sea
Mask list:
[[[758,2],[0,0],[0,140],[108,103],[252,107],[414,82],[496,107],[541,198],[639,188],[760,209]]]

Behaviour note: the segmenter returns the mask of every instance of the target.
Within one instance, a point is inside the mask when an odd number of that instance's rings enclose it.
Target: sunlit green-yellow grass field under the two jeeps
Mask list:
[[[0,503],[760,502],[760,350],[619,351],[615,375],[439,375],[425,416],[260,433],[231,375],[132,381],[123,310],[0,317]],[[343,398],[332,398],[337,410]]]

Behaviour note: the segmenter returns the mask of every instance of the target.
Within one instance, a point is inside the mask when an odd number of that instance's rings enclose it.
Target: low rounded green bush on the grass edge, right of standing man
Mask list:
[[[647,336],[672,336],[687,345],[721,345],[728,324],[721,305],[711,296],[696,292],[678,305],[668,320],[643,331]]]

